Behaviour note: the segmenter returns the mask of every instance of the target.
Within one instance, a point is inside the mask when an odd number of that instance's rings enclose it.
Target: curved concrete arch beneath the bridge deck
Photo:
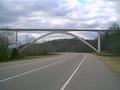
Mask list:
[[[33,40],[32,42],[28,43],[27,45],[25,45],[20,51],[24,50],[26,47],[30,46],[32,43],[35,43],[39,39],[42,39],[42,38],[44,38],[46,36],[49,36],[49,35],[59,34],[59,33],[60,34],[65,34],[65,35],[69,35],[69,36],[72,36],[74,38],[77,38],[77,39],[81,40],[83,43],[85,43],[87,46],[89,46],[90,48],[92,48],[95,52],[97,52],[97,53],[99,52],[99,50],[97,50],[94,46],[92,46],[90,43],[88,43],[87,41],[85,41],[83,38],[78,37],[77,35],[69,33],[69,32],[66,32],[66,31],[64,31],[64,32],[58,32],[58,31],[56,31],[56,32],[48,32],[48,33],[46,33],[46,34],[38,37],[37,39]]]

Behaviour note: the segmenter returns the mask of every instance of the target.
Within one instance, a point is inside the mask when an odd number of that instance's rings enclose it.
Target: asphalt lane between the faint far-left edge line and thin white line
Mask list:
[[[74,58],[76,57],[77,54],[63,54],[61,56],[55,56],[55,57],[49,57],[49,60],[48,58],[46,60],[35,60],[34,63],[33,62],[25,62],[25,63],[17,63],[15,65],[12,65],[11,66],[11,63],[10,63],[10,66],[6,66],[6,67],[2,67],[0,69],[0,80],[4,80],[4,79],[7,79],[7,78],[10,78],[10,77],[14,77],[16,75],[19,75],[19,74],[22,74],[22,73],[25,73],[25,72],[29,72],[31,70],[34,70],[34,69],[37,69],[37,68],[40,68],[40,67],[44,67],[46,65],[49,65],[49,64],[52,64],[52,63],[56,63],[57,61],[65,61],[65,60],[69,60],[71,58]],[[40,58],[41,59],[41,58]],[[40,61],[40,62],[39,62]],[[37,63],[36,63],[37,62]]]

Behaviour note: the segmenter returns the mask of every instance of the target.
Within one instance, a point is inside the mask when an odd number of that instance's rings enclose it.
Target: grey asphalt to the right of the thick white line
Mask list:
[[[120,77],[98,58],[88,54],[86,62],[65,90],[120,90]]]

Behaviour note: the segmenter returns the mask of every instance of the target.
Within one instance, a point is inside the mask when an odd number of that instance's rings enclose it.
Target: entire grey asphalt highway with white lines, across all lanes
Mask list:
[[[92,54],[63,53],[1,63],[0,90],[120,90],[120,77]]]

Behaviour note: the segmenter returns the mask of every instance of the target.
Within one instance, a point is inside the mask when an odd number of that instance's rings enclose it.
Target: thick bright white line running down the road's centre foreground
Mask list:
[[[69,77],[69,79],[65,82],[65,84],[60,88],[60,90],[64,90],[66,88],[66,86],[68,85],[68,83],[70,82],[70,80],[73,78],[73,76],[75,75],[75,73],[78,71],[78,69],[80,68],[80,66],[83,64],[83,62],[85,61],[86,56],[84,56],[83,60],[80,62],[80,64],[78,65],[78,67],[75,69],[75,71],[72,73],[72,75]]]

